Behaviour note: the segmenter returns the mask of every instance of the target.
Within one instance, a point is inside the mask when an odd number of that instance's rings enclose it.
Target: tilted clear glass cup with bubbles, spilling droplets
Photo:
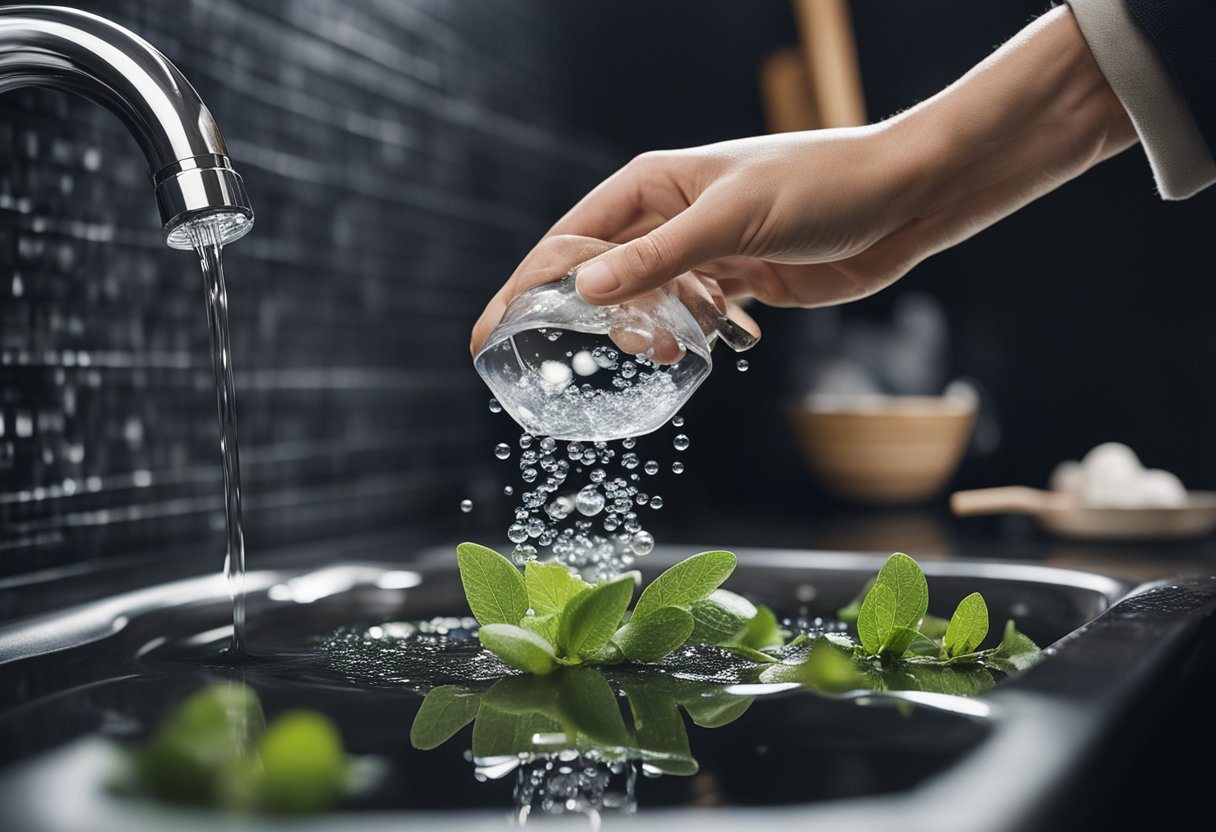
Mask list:
[[[709,376],[717,335],[665,288],[596,307],[568,275],[512,300],[473,365],[528,433],[606,442],[675,416]]]

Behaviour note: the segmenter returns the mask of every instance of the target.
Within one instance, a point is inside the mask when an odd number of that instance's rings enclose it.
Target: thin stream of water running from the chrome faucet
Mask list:
[[[227,289],[224,287],[224,247],[218,227],[223,218],[203,218],[186,226],[203,270],[207,325],[212,339],[212,367],[215,372],[215,407],[220,423],[220,455],[224,459],[224,521],[227,530],[229,595],[232,597],[232,641],[229,654],[244,654],[244,530],[241,524],[241,454],[236,438],[236,382],[232,377],[232,349],[229,341]]]

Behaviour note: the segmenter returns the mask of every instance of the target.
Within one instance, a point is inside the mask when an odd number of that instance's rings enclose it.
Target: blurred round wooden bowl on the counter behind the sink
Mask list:
[[[945,488],[975,427],[975,406],[930,395],[812,397],[789,418],[826,490],[858,502],[908,504]]]

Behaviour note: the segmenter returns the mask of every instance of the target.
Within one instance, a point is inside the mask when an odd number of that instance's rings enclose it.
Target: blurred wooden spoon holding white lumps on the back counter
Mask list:
[[[1088,508],[1075,497],[1024,485],[955,491],[950,507],[959,517],[1018,513],[1047,532],[1079,540],[1161,540],[1198,538],[1216,529],[1216,491],[1190,491],[1178,508]]]

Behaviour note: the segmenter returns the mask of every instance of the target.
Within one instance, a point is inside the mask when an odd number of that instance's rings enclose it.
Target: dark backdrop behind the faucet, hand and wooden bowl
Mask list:
[[[778,0],[79,5],[191,79],[257,212],[225,249],[253,567],[303,541],[334,539],[340,557],[379,530],[502,536],[514,479],[491,448],[518,431],[489,414],[468,359],[482,305],[634,154],[761,133],[760,61],[795,40]],[[855,0],[869,117],[934,94],[1045,9]],[[719,348],[685,411],[688,472],[659,487],[652,529],[810,545],[845,507],[786,423],[807,333],[885,321],[908,292],[941,304],[948,375],[979,383],[998,426],[953,487],[1041,485],[1120,440],[1216,488],[1214,208],[1216,189],[1161,201],[1133,148],[874,298],[756,310],[751,370]],[[193,258],[161,243],[112,116],[45,90],[0,97],[0,615],[30,585],[96,568],[219,568],[198,283]],[[669,440],[652,438],[665,461]]]

